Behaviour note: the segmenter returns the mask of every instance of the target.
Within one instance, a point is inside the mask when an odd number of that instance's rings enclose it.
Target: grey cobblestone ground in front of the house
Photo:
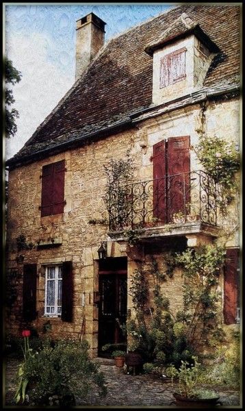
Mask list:
[[[15,375],[18,361],[6,361],[6,392],[5,405],[13,406],[15,393]],[[77,406],[155,406],[155,408],[175,408],[172,397],[171,384],[159,381],[149,375],[127,375],[123,369],[114,365],[101,364],[101,371],[105,374],[107,396],[100,398],[96,390],[86,399],[77,398]],[[240,395],[236,391],[218,390],[222,406],[240,406]],[[222,407],[218,407],[222,408]],[[237,407],[236,407],[237,408]]]

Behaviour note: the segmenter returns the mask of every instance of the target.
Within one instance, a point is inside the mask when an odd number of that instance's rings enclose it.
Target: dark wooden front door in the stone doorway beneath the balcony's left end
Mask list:
[[[103,356],[105,344],[125,343],[126,336],[120,325],[127,319],[127,269],[125,260],[113,258],[99,270],[99,355]],[[123,264],[119,261],[124,260]],[[119,264],[118,264],[119,262]]]

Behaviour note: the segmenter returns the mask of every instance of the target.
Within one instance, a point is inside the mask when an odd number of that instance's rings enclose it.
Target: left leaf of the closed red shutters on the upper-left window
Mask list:
[[[42,167],[41,216],[53,214],[53,164]]]

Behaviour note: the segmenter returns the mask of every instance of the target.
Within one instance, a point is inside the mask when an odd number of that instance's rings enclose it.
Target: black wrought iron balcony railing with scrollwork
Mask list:
[[[204,171],[118,184],[108,197],[109,229],[122,231],[170,223],[217,225],[218,186]]]

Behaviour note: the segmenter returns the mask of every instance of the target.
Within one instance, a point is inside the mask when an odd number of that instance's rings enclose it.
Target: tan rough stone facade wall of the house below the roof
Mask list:
[[[8,233],[7,233],[7,266],[20,269],[23,264],[38,264],[38,318],[34,326],[42,333],[42,327],[47,320],[51,321],[51,336],[53,338],[80,338],[83,316],[86,318],[85,337],[96,356],[98,337],[98,308],[94,304],[94,291],[98,290],[98,253],[101,241],[108,241],[109,257],[128,257],[128,289],[131,276],[136,269],[136,258],[127,253],[126,244],[112,241],[108,237],[108,227],[101,224],[91,224],[91,219],[106,219],[107,210],[103,201],[106,175],[103,165],[111,158],[123,159],[127,151],[131,153],[136,166],[135,179],[142,181],[152,178],[153,145],[156,142],[174,136],[190,136],[191,145],[198,141],[200,127],[205,127],[207,134],[216,134],[226,138],[238,138],[239,134],[239,102],[236,100],[207,105],[206,123],[201,121],[199,105],[164,114],[156,119],[144,121],[138,128],[130,132],[122,132],[96,143],[91,142],[86,147],[80,147],[66,153],[50,156],[27,166],[10,171],[9,203],[8,203]],[[220,125],[222,124],[222,127]],[[144,144],[142,144],[144,143]],[[58,160],[65,160],[65,192],[66,205],[63,214],[55,216],[40,216],[42,166]],[[199,167],[191,152],[191,169]],[[16,249],[16,238],[23,234],[27,242],[35,246],[38,241],[48,241],[61,238],[59,247],[23,250],[23,264],[16,263],[20,254]],[[231,245],[237,245],[236,236],[231,238]],[[144,256],[144,258],[148,258]],[[65,323],[60,319],[49,319],[43,316],[44,307],[44,264],[73,262],[75,282],[73,323]],[[18,334],[23,327],[22,310],[22,280],[18,283],[18,299],[6,327],[8,332]],[[170,298],[172,310],[181,307],[181,274],[176,273],[169,280],[166,295]],[[128,308],[131,308],[131,296],[128,295]]]

